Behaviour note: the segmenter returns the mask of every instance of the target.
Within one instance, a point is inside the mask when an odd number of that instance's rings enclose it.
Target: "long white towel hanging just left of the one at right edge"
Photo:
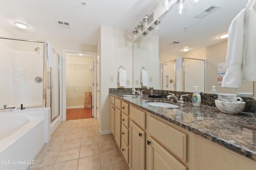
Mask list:
[[[228,50],[226,56],[226,74],[222,80],[222,87],[240,88],[242,86],[242,55],[244,40],[244,14],[243,9],[232,20],[228,29]]]

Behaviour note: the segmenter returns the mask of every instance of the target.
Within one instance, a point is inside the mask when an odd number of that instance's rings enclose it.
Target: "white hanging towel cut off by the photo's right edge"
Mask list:
[[[256,81],[256,13],[249,8],[244,17],[243,82]]]

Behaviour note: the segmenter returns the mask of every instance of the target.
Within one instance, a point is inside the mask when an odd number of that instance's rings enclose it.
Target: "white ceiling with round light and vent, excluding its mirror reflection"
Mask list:
[[[86,6],[82,6],[85,2]],[[97,45],[100,26],[132,30],[158,0],[2,0],[1,26],[15,37]],[[69,22],[71,29],[58,27]],[[20,29],[14,22],[29,26]]]

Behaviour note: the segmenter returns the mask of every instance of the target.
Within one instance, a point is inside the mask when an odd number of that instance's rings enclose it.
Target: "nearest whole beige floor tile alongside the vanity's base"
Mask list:
[[[101,153],[102,166],[106,168],[108,166],[113,166],[116,164],[124,163],[124,160],[119,152],[119,150],[113,150],[110,152]]]

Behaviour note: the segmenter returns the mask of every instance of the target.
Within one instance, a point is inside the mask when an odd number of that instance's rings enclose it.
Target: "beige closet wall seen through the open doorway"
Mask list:
[[[80,57],[66,54],[66,107],[84,107],[84,92],[92,92],[93,70],[89,70],[89,65],[70,64],[84,63],[92,64],[91,55]],[[89,94],[87,95],[89,98]],[[87,103],[89,101],[86,101]]]

